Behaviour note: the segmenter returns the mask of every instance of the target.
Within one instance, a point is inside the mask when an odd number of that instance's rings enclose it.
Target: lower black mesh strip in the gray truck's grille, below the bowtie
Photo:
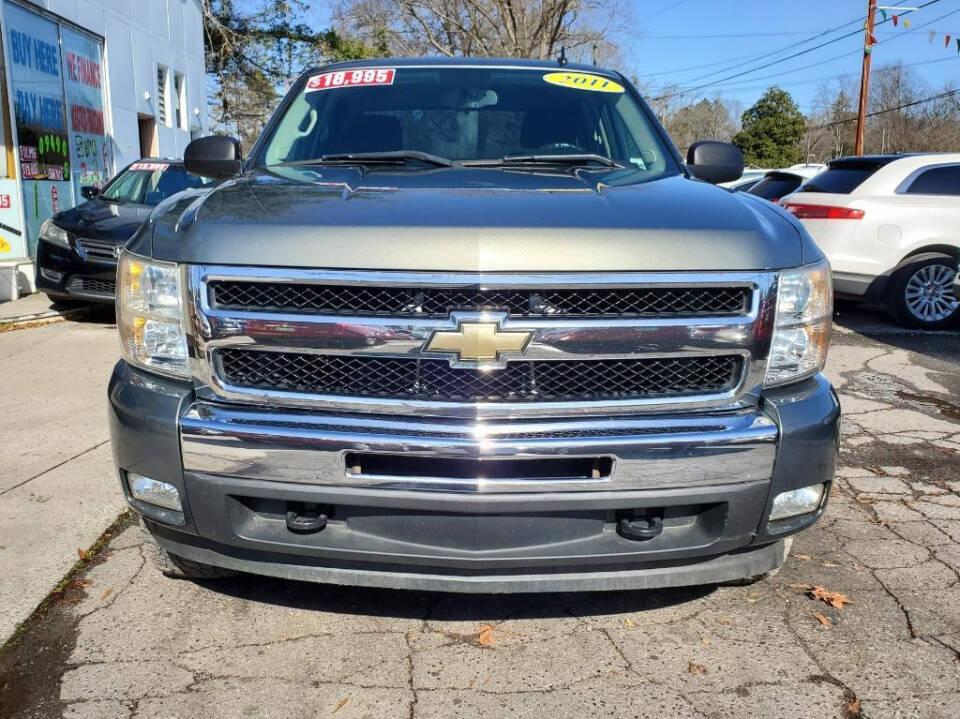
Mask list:
[[[446,360],[223,349],[223,378],[251,387],[444,402],[557,402],[711,394],[733,388],[737,356],[511,362],[483,372]]]

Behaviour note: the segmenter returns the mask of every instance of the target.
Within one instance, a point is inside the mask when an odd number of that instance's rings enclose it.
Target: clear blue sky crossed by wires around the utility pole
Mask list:
[[[878,4],[918,7],[926,2]],[[628,31],[621,45],[623,69],[639,75],[648,94],[667,84],[705,85],[691,96],[719,93],[744,107],[776,84],[806,112],[824,81],[848,75],[859,87],[866,7],[866,0],[634,0],[631,23],[637,31]],[[909,30],[904,18],[910,19]],[[877,19],[883,19],[879,12]],[[937,33],[933,43],[930,30]],[[829,42],[847,33],[854,34]],[[904,14],[897,27],[892,21],[879,25],[874,67],[897,61],[911,65],[929,94],[946,85],[960,86],[960,54],[953,38],[950,48],[944,47],[947,33],[960,37],[960,0],[939,0]],[[795,53],[804,54],[778,62]]]

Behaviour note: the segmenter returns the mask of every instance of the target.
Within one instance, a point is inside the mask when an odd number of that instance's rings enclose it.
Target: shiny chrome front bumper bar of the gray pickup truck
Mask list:
[[[670,489],[769,480],[777,425],[756,409],[643,418],[453,422],[238,409],[180,417],[186,472],[306,485],[501,493]],[[347,455],[450,460],[609,460],[606,476],[483,478],[352,472]],[[518,463],[521,467],[523,463]]]

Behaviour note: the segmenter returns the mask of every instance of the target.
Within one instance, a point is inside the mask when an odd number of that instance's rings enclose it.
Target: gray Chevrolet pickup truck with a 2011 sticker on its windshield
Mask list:
[[[457,592],[751,580],[824,510],[823,254],[592,66],[306,72],[122,254],[109,402],[161,567]]]

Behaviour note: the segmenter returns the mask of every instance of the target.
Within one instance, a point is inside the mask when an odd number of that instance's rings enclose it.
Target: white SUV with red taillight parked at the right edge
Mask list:
[[[908,327],[960,317],[960,153],[843,157],[781,204],[823,249],[834,290]]]

